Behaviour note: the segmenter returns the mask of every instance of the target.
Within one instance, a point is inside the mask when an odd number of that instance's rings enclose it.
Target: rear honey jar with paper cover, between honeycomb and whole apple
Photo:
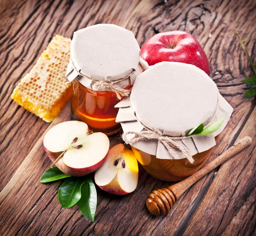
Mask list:
[[[121,130],[114,106],[147,68],[134,34],[125,28],[98,24],[74,32],[66,74],[73,81],[73,118],[95,132],[111,135]]]

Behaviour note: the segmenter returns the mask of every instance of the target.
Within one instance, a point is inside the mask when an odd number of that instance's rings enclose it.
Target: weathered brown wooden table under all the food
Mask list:
[[[1,235],[252,235],[256,234],[256,100],[244,99],[251,76],[237,29],[256,55],[254,0],[2,0],[0,3],[0,234]],[[151,215],[145,199],[169,186],[140,170],[134,193],[112,196],[97,188],[96,221],[75,206],[62,208],[61,181],[40,184],[50,160],[42,135],[71,119],[69,104],[51,124],[21,108],[11,94],[55,34],[96,23],[133,31],[140,45],[170,30],[192,33],[204,47],[212,79],[234,108],[210,160],[249,135],[253,145],[216,168],[177,201],[166,217]],[[255,60],[255,57],[253,57]],[[122,142],[111,137],[111,145]]]

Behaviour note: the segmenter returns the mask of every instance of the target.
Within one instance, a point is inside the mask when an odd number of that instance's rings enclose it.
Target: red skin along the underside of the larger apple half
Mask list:
[[[51,159],[52,162],[54,162],[58,156],[62,153],[62,152],[57,152],[57,153],[53,153],[49,150],[47,150],[46,147],[44,147],[44,150],[47,154],[47,156],[49,156],[49,159]],[[108,155],[108,154],[107,154]],[[107,156],[106,155],[106,156]],[[65,174],[71,175],[71,176],[84,176],[87,174],[90,174],[94,171],[96,171],[105,161],[106,156],[97,164],[90,166],[90,167],[86,167],[86,168],[71,168],[69,166],[67,166],[64,162],[63,162],[63,158],[60,158],[55,165]]]

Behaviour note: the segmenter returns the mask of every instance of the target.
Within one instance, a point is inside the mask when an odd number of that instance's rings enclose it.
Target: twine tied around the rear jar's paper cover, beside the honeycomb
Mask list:
[[[85,74],[82,74],[77,68],[76,66],[74,65],[73,63],[73,60],[72,60],[72,57],[70,55],[70,61],[73,65],[73,68],[75,69],[75,71],[77,72],[77,74],[79,74],[80,76],[83,76],[83,77],[86,77],[88,79],[90,79],[92,82],[93,82],[93,85],[92,85],[92,90],[94,92],[98,92],[98,91],[102,91],[101,89],[105,89],[105,91],[112,91],[116,94],[116,97],[121,100],[123,97],[127,97],[131,91],[129,89],[125,89],[125,88],[120,88],[118,85],[116,85],[116,83],[122,81],[122,80],[125,80],[126,78],[128,78],[129,76],[131,76],[131,74],[128,76],[128,77],[125,77],[125,78],[122,78],[122,79],[119,79],[119,80],[115,80],[115,81],[109,81],[109,82],[106,82],[106,81],[99,81],[99,80],[93,80],[92,78],[90,77],[87,77]]]

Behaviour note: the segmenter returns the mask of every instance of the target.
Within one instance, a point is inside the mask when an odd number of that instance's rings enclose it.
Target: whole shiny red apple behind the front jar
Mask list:
[[[154,35],[142,46],[141,57],[148,65],[163,61],[192,64],[210,76],[210,65],[204,49],[193,35],[185,31]]]

